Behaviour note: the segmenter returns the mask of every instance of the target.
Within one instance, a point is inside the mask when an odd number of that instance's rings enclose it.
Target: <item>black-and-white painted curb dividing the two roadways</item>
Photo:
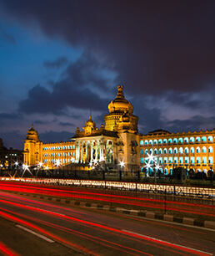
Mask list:
[[[88,208],[97,208],[99,210],[106,210],[110,212],[128,214],[136,217],[152,218],[152,219],[163,220],[171,223],[181,223],[189,226],[215,229],[215,222],[213,221],[198,221],[195,218],[187,218],[187,217],[179,218],[179,217],[168,215],[168,214],[159,214],[155,212],[143,212],[138,210],[128,210],[122,207],[112,207],[110,205],[103,205],[101,203],[95,203],[95,202],[81,202],[81,201],[68,200],[68,199],[63,199],[58,197],[48,197],[48,196],[41,196],[41,195],[35,195],[35,194],[31,195],[31,194],[22,193],[22,192],[17,192],[17,193],[23,196],[38,197],[39,199],[45,199],[52,202],[62,202],[65,204],[88,207]]]

